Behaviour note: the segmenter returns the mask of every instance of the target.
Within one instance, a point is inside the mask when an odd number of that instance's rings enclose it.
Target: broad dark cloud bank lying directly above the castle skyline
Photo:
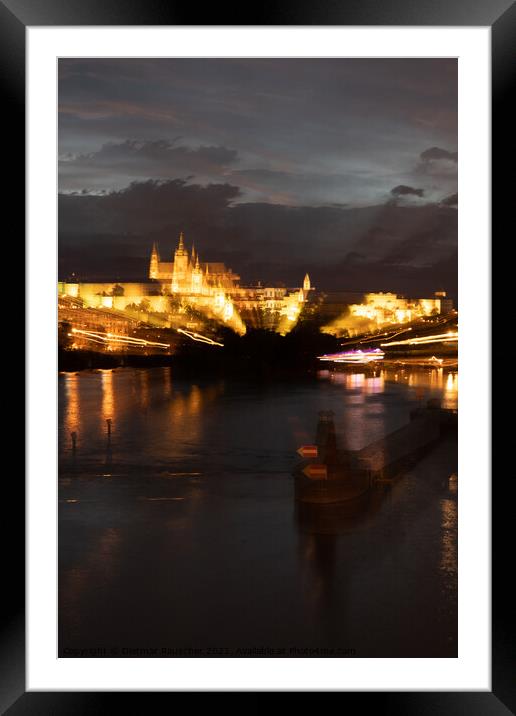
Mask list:
[[[224,261],[243,284],[296,286],[308,270],[321,288],[372,290],[389,284],[404,291],[419,275],[421,290],[435,290],[436,284],[454,290],[449,272],[431,269],[448,266],[454,255],[455,210],[234,204],[238,191],[227,184],[201,187],[176,180],[135,183],[102,196],[61,195],[60,275],[144,278],[152,242],[159,242],[166,258],[184,231],[201,257]]]

